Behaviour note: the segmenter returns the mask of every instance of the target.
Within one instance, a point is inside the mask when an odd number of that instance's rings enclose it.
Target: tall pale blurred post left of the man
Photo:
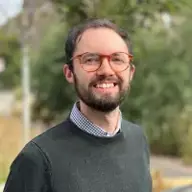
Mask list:
[[[34,1],[32,1],[34,3]],[[29,56],[29,33],[32,26],[34,9],[31,0],[23,0],[22,15],[22,89],[23,89],[23,142],[24,145],[31,136],[31,92],[30,92],[30,56]]]

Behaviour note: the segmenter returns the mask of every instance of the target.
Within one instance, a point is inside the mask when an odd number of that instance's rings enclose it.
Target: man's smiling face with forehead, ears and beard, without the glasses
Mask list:
[[[116,32],[99,28],[86,30],[77,41],[74,56],[86,52],[110,55],[114,52],[129,53],[129,50]],[[130,66],[122,72],[115,72],[105,58],[98,70],[87,72],[82,68],[80,60],[74,59],[73,72],[65,65],[64,74],[74,84],[77,95],[84,104],[101,112],[110,112],[124,100],[134,68]]]

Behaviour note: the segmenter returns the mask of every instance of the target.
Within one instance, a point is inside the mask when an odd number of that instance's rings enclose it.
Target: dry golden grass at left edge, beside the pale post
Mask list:
[[[33,130],[31,137],[38,133]],[[12,161],[23,147],[22,136],[20,118],[0,116],[0,183],[6,180]]]

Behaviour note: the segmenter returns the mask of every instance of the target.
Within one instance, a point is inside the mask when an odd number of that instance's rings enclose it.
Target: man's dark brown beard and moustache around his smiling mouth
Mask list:
[[[100,112],[109,113],[115,110],[125,100],[126,94],[129,89],[129,84],[123,87],[122,81],[115,79],[115,81],[117,82],[116,86],[118,86],[119,88],[118,93],[115,96],[104,95],[98,98],[97,95],[94,94],[94,91],[92,90],[93,85],[105,80],[114,80],[114,78],[109,79],[104,76],[98,77],[97,79],[92,81],[89,84],[88,89],[86,89],[83,83],[81,84],[77,76],[74,74],[74,81],[75,81],[74,86],[79,99],[82,100],[87,106],[89,106],[92,109],[95,109]]]

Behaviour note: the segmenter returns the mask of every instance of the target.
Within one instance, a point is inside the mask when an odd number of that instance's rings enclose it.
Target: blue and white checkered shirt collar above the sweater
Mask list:
[[[92,134],[97,137],[113,137],[121,128],[121,112],[120,112],[120,120],[118,122],[117,131],[114,134],[107,133],[101,127],[94,125],[91,121],[89,121],[78,109],[77,103],[74,104],[71,114],[71,121],[77,125],[81,130],[86,131],[89,134]]]

